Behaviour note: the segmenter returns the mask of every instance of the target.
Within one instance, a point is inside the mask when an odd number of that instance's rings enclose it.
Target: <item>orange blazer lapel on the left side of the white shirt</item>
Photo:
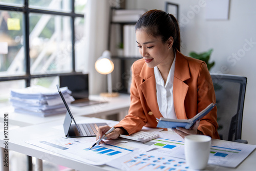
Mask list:
[[[147,67],[144,63],[140,77],[143,79],[140,84],[141,91],[144,94],[147,106],[151,109],[156,118],[163,117],[159,111],[156,95],[156,79],[154,69]]]

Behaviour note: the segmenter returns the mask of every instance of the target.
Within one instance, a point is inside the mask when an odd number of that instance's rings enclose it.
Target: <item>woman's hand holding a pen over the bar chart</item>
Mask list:
[[[100,126],[98,128],[98,133],[96,135],[96,140],[100,139],[107,131],[109,131],[111,127],[109,125]],[[124,134],[125,131],[122,128],[116,128],[112,133],[106,135],[104,140],[112,140],[117,139],[120,134]],[[100,141],[99,144],[105,143],[104,141]]]

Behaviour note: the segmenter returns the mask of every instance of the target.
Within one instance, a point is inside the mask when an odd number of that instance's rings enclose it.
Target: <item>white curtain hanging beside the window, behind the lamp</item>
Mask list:
[[[83,72],[89,73],[90,94],[106,91],[106,75],[99,74],[94,68],[94,63],[108,47],[109,10],[109,1],[88,0],[84,25],[86,34],[84,58],[87,62]]]

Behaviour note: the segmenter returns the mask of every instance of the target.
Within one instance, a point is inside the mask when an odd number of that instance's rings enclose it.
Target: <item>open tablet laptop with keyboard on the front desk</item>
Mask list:
[[[57,86],[59,95],[67,108],[67,113],[66,113],[65,120],[63,123],[63,128],[64,128],[66,137],[71,137],[71,138],[95,137],[99,126],[108,125],[106,123],[80,123],[80,124],[77,124],[75,121],[75,118],[73,117],[73,115],[69,109],[69,106],[68,106],[64,96],[62,95],[62,93],[60,91],[59,86],[58,85],[56,85],[56,86]],[[75,124],[72,124],[72,120],[74,121]]]

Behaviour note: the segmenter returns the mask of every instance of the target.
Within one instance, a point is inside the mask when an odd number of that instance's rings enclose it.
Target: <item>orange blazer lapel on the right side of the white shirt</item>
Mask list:
[[[187,119],[184,100],[188,91],[188,86],[184,82],[190,78],[187,59],[176,51],[176,62],[174,71],[174,108],[178,119]],[[177,114],[177,112],[179,114]]]

